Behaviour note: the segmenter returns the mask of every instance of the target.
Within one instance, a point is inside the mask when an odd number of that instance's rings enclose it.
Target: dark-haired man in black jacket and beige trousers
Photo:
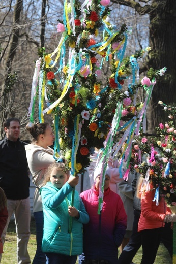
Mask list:
[[[30,178],[25,154],[26,143],[19,139],[20,121],[9,118],[4,122],[6,136],[0,141],[0,187],[7,197],[8,220],[2,233],[5,242],[7,228],[12,215],[15,217],[17,233],[17,261],[31,263],[27,251],[30,238]]]

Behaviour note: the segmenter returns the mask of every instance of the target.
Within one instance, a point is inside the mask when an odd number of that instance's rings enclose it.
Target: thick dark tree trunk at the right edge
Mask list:
[[[156,2],[156,1],[153,1]],[[160,122],[168,121],[168,115],[163,107],[158,105],[161,100],[166,104],[176,102],[176,1],[157,1],[158,7],[150,14],[150,39],[152,47],[147,60],[148,68],[167,68],[166,73],[156,83],[150,109],[149,131],[153,131]]]

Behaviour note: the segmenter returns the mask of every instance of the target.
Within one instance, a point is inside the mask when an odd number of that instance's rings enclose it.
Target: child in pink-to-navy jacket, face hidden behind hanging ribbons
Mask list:
[[[107,166],[104,180],[102,209],[99,208],[100,163],[94,172],[95,185],[80,194],[90,221],[83,226],[83,254],[79,264],[115,264],[118,261],[118,247],[121,245],[127,227],[127,215],[121,197],[111,191],[109,184],[114,168]],[[119,169],[116,168],[119,174]]]

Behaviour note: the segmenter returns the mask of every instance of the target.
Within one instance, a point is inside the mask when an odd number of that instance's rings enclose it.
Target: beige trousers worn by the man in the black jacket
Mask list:
[[[31,263],[30,256],[27,251],[28,240],[30,238],[30,198],[21,200],[7,199],[8,219],[7,224],[2,233],[3,244],[5,242],[5,236],[7,228],[12,215],[14,214],[16,234],[17,234],[17,263],[28,264]],[[1,257],[0,257],[1,261]],[[3,262],[3,261],[2,261]]]

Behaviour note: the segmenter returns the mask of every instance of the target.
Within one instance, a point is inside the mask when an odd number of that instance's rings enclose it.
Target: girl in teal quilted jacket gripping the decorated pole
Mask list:
[[[45,185],[40,190],[44,212],[42,251],[48,264],[75,264],[77,255],[82,254],[82,224],[89,222],[89,216],[76,190],[74,206],[70,206],[79,176],[69,177],[65,160],[58,161],[48,167]],[[71,233],[70,217],[73,218]]]

